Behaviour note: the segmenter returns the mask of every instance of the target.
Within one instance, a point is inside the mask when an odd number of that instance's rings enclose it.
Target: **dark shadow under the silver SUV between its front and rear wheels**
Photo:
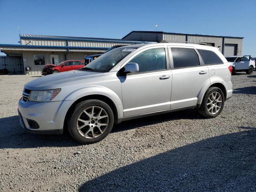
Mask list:
[[[114,124],[114,127],[111,132],[120,132],[125,130],[130,130],[134,128],[139,128],[142,126],[158,124],[162,122],[167,122],[171,120],[180,120],[180,119],[204,119],[200,116],[196,109],[188,109],[177,112],[171,112],[161,115],[154,115],[144,118],[138,118],[134,120],[128,120],[121,122],[120,124]]]

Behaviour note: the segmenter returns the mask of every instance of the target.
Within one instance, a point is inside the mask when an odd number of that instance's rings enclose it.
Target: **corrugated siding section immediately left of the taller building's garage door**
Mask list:
[[[188,35],[188,41],[200,43],[214,43],[215,47],[220,46],[220,52],[222,52],[222,37]]]

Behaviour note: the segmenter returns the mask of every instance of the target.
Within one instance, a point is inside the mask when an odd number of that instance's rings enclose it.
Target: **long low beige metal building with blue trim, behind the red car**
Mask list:
[[[0,50],[9,57],[22,58],[22,73],[40,75],[45,64],[58,64],[64,60],[84,60],[84,56],[103,53],[114,45],[140,43],[147,42],[22,34],[20,44],[0,44]],[[26,72],[26,67],[30,67],[30,71]]]

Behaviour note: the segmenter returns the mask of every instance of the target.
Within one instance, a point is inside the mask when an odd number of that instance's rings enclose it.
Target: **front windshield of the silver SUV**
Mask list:
[[[94,72],[109,72],[118,62],[125,58],[136,48],[116,48],[87,64],[81,70]]]

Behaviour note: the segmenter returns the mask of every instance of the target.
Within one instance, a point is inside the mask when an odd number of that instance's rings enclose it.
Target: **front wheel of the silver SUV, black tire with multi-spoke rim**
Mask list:
[[[103,140],[112,130],[114,114],[101,100],[86,100],[76,104],[67,121],[68,132],[81,144]]]

